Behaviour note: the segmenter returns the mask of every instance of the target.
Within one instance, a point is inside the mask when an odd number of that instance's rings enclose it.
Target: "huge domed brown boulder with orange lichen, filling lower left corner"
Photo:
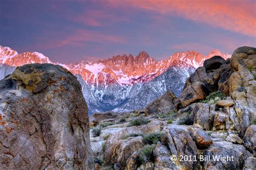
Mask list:
[[[28,64],[0,81],[0,167],[93,168],[87,105],[68,70]]]

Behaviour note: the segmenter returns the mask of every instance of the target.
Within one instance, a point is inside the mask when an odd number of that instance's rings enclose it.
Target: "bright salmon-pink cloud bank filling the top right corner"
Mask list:
[[[194,22],[256,36],[255,1],[215,0],[109,0],[112,6],[132,6],[163,15],[176,15]]]

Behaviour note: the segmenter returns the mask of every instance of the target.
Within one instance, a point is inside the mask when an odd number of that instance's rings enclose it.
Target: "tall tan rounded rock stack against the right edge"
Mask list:
[[[235,103],[235,111],[240,115],[241,132],[245,132],[250,121],[256,118],[256,48],[239,47],[231,58],[233,74],[229,80],[230,96]]]

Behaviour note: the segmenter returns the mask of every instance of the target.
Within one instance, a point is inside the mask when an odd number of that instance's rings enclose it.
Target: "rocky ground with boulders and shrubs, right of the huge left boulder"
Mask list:
[[[206,60],[178,98],[169,91],[145,110],[93,114],[95,168],[255,169],[255,71],[256,49],[239,47]]]

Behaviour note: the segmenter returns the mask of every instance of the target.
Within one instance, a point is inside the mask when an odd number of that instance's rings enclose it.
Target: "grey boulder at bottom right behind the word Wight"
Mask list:
[[[235,145],[232,142],[213,142],[204,152],[204,155],[210,157],[210,160],[204,161],[203,169],[243,169],[245,167],[245,160],[251,161],[252,167],[256,167],[255,161],[248,159],[252,157],[252,154],[246,151],[244,146]],[[214,160],[213,158],[219,158],[219,160]]]

